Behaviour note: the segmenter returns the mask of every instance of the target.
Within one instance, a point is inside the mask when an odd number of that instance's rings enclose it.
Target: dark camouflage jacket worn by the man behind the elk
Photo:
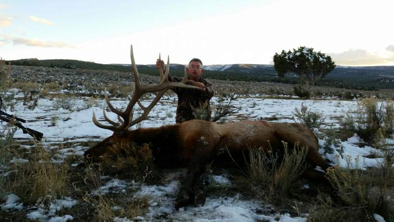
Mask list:
[[[170,82],[180,82],[182,78],[168,75],[168,80]],[[198,81],[205,85],[205,91],[179,87],[172,89],[178,95],[178,107],[176,108],[175,117],[177,123],[196,118],[208,121],[211,119],[212,110],[209,100],[214,94],[213,86],[202,76]]]

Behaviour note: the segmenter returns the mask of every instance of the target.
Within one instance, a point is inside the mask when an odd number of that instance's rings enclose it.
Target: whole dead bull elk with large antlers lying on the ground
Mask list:
[[[205,194],[199,186],[199,177],[203,173],[206,163],[213,159],[227,155],[227,149],[232,156],[239,156],[248,152],[249,148],[283,148],[282,141],[287,142],[289,148],[307,147],[306,162],[310,166],[303,174],[309,177],[322,177],[323,173],[314,168],[320,166],[327,170],[330,165],[318,153],[318,139],[306,126],[298,123],[277,123],[266,121],[242,121],[218,124],[203,120],[191,120],[174,125],[165,125],[157,128],[129,128],[146,119],[149,111],[158,103],[165,91],[173,87],[198,89],[194,81],[189,80],[186,74],[181,82],[169,82],[169,59],[165,73],[159,69],[161,82],[157,85],[142,86],[139,81],[137,67],[131,45],[131,64],[134,75],[134,91],[125,111],[115,109],[105,94],[105,100],[111,111],[118,115],[119,122],[109,119],[103,108],[103,117],[111,125],[98,122],[93,112],[93,122],[100,128],[113,131],[113,135],[104,139],[96,146],[88,149],[84,156],[91,161],[99,161],[100,156],[110,152],[113,145],[118,143],[134,142],[137,145],[150,144],[152,154],[157,162],[174,163],[177,166],[187,167],[187,175],[183,180],[175,201],[175,208],[188,204],[204,204]],[[144,107],[138,99],[145,93],[156,92],[152,103]],[[132,109],[138,104],[143,110],[142,115],[133,119]],[[242,155],[242,154],[241,154]],[[231,160],[229,160],[231,161]],[[323,174],[324,175],[324,174]]]

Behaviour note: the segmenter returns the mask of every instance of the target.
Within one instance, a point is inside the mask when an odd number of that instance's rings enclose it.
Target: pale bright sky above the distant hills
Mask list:
[[[0,0],[0,57],[103,64],[273,64],[312,47],[337,65],[394,65],[393,0]]]

